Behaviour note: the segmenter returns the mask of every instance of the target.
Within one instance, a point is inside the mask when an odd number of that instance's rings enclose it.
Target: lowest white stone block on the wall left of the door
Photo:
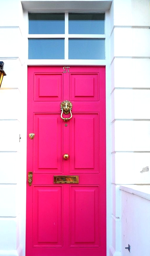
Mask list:
[[[17,218],[0,218],[0,248],[15,250],[17,246]],[[0,251],[1,252],[1,251]],[[1,254],[0,254],[1,255]]]

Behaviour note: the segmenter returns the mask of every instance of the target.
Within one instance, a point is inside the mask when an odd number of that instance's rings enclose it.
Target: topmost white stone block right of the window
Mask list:
[[[149,26],[149,0],[114,0],[115,26]]]

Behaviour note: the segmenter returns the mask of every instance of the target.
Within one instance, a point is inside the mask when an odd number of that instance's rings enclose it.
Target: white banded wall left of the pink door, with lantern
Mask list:
[[[0,0],[0,6],[0,61],[4,61],[6,72],[0,89],[0,256],[22,256],[25,255],[27,49],[21,2]]]

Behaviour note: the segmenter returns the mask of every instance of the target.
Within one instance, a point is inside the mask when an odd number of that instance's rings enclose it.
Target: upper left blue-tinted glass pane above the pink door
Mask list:
[[[64,33],[64,13],[29,13],[29,34]]]

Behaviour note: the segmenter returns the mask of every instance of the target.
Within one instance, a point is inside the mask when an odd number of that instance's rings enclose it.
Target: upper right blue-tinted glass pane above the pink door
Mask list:
[[[105,14],[69,13],[69,34],[105,34]]]

